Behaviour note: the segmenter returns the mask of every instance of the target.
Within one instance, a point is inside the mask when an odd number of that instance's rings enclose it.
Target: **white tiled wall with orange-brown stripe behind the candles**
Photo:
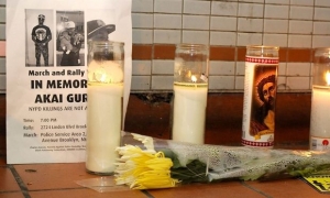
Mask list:
[[[6,2],[0,0],[0,90]],[[312,48],[330,47],[330,0],[132,0],[132,92],[172,91],[175,44],[210,45],[211,92],[242,92],[245,46],[278,45],[279,91],[310,91]]]

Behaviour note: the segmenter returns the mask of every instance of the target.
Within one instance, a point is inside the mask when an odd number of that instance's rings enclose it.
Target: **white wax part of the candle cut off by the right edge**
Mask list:
[[[310,113],[310,144],[312,150],[323,150],[330,139],[330,90],[312,89]]]

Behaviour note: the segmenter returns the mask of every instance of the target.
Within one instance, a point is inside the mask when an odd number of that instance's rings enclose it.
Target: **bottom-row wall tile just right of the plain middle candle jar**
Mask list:
[[[209,89],[234,89],[234,76],[209,76]]]

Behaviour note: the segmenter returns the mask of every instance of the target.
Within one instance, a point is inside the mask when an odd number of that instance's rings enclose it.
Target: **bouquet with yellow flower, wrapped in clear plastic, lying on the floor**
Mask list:
[[[169,188],[226,179],[268,180],[330,174],[330,152],[190,144],[123,132],[117,185]]]

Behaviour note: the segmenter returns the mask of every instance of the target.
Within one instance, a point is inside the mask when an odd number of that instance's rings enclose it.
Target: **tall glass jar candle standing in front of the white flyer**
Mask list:
[[[122,130],[123,43],[90,41],[88,47],[86,168],[110,175]]]

